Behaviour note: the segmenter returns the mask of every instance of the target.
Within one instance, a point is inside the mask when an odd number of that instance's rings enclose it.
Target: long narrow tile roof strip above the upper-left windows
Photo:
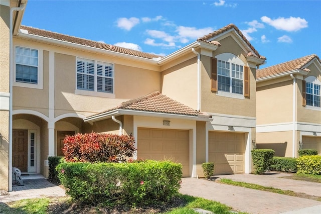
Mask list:
[[[71,42],[71,43],[75,43],[75,44],[85,45],[85,46],[99,48],[99,49],[103,49],[103,50],[114,51],[114,52],[118,52],[118,53],[128,54],[128,55],[147,58],[147,59],[162,57],[162,56],[158,56],[155,54],[144,53],[144,52],[135,51],[135,50],[128,49],[128,48],[122,48],[122,47],[118,47],[118,46],[114,46],[114,45],[105,44],[102,42],[96,42],[96,41],[92,41],[92,40],[88,40],[88,39],[82,39],[82,38],[78,38],[78,37],[74,37],[74,36],[68,36],[68,35],[59,34],[59,33],[46,31],[46,30],[41,30],[41,29],[33,28],[33,27],[21,26],[21,29],[27,30],[28,33],[32,34],[32,35],[47,37],[47,38],[51,38],[51,39],[57,39],[57,40],[65,41],[65,42]]]

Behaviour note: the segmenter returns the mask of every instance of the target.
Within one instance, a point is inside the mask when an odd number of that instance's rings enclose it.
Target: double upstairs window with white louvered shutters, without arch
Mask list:
[[[114,92],[114,65],[77,58],[77,89]]]

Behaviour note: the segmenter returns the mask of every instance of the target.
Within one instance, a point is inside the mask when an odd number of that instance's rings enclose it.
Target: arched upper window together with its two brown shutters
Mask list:
[[[249,97],[249,71],[234,54],[219,54],[211,61],[211,90],[222,96]]]

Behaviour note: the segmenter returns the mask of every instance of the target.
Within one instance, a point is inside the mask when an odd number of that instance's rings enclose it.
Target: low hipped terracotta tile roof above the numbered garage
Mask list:
[[[100,115],[103,113],[111,112],[114,110],[132,110],[132,111],[142,111],[142,112],[154,112],[154,113],[165,113],[174,115],[186,115],[186,116],[199,116],[200,113],[192,108],[174,100],[170,97],[162,94],[159,91],[154,91],[152,93],[130,99],[128,101],[122,102],[120,105],[113,109],[95,114]],[[90,116],[90,117],[93,117]]]

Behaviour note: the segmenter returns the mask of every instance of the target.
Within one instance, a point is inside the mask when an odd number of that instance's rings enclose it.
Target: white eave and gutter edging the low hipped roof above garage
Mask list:
[[[191,115],[178,115],[178,114],[168,114],[168,113],[158,113],[158,112],[117,109],[111,112],[106,112],[106,113],[85,118],[84,122],[88,122],[88,123],[97,122],[97,121],[109,119],[111,118],[111,116],[119,116],[119,115],[144,116],[144,117],[169,118],[169,119],[173,118],[173,119],[204,121],[204,122],[213,120],[212,118],[205,117],[203,115],[191,116]]]

